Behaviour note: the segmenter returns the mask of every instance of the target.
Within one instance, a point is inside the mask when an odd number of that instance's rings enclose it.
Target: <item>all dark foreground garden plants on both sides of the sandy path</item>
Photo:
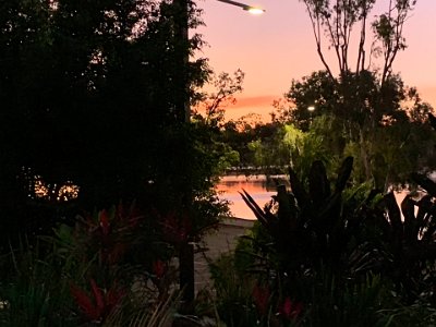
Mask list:
[[[436,183],[414,174],[425,194],[400,211],[393,193],[350,187],[352,165],[330,181],[315,161],[307,185],[290,170],[292,192],[279,185],[265,208],[243,192],[257,222],[210,263],[213,289],[190,315],[173,265],[189,221],[120,205],[3,255],[0,324],[431,326]]]

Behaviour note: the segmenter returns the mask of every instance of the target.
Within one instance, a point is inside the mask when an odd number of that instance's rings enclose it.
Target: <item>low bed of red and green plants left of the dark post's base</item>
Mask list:
[[[4,326],[160,326],[179,307],[173,221],[118,206],[60,225],[2,257]],[[160,318],[158,318],[160,317]],[[117,323],[117,324],[116,324]],[[2,325],[2,326],[3,326]]]

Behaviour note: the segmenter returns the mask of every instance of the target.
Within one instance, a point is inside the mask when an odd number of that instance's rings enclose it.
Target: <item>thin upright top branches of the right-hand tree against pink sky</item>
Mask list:
[[[306,7],[312,29],[316,41],[317,53],[330,75],[334,69],[326,58],[327,49],[332,49],[337,59],[338,70],[343,77],[348,72],[356,75],[377,64],[374,61],[382,59],[382,84],[392,73],[392,64],[399,51],[407,48],[403,27],[416,4],[416,0],[391,0],[386,9],[368,22],[377,0],[300,0]],[[372,41],[368,46],[368,28],[372,32]],[[353,48],[353,38],[356,38],[356,48]],[[325,41],[326,40],[326,41]],[[356,50],[355,62],[352,62],[352,50]]]

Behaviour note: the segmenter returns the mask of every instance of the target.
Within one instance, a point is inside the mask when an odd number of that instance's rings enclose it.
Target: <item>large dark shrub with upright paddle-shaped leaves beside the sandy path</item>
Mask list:
[[[315,161],[307,178],[308,191],[290,169],[292,192],[279,185],[277,196],[264,209],[242,193],[258,220],[257,230],[249,238],[252,269],[269,289],[268,303],[274,304],[275,313],[280,313],[277,308],[284,303],[293,304],[294,324],[367,326],[376,322],[377,307],[370,310],[365,303],[376,303],[383,295],[379,277],[370,275],[378,257],[359,241],[371,199],[360,207],[343,201],[352,161],[343,161],[332,190],[324,165]]]

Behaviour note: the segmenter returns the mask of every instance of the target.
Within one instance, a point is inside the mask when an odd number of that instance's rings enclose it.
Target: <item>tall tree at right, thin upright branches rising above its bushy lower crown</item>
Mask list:
[[[427,124],[433,108],[393,72],[398,53],[407,48],[403,27],[416,1],[388,1],[371,26],[379,1],[301,2],[325,70],[294,80],[284,101],[276,102],[274,120],[311,130],[334,158],[353,155],[356,181],[373,181],[380,190],[407,182],[411,171],[434,169]]]

